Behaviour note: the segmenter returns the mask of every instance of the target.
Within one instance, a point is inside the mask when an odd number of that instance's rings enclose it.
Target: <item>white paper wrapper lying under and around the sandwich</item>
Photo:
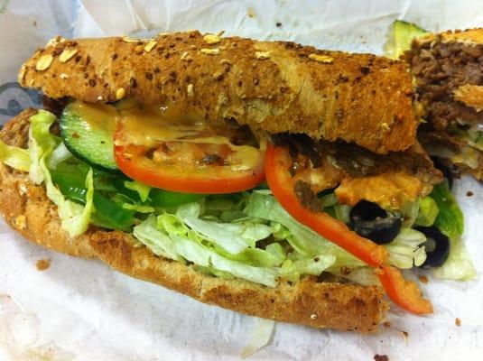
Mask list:
[[[255,17],[249,17],[249,9]],[[5,1],[0,0],[0,84],[14,81],[31,52],[51,36],[225,30],[259,39],[288,39],[321,48],[381,52],[396,18],[429,30],[483,26],[482,1]],[[277,27],[275,23],[282,23]],[[155,29],[155,31],[153,30]],[[0,96],[0,107],[2,102]],[[28,103],[22,100],[23,105]],[[27,102],[27,103],[25,103]],[[467,197],[471,190],[475,195]],[[466,216],[464,239],[478,273],[483,261],[483,192],[456,183]],[[39,259],[51,267],[37,271]],[[360,336],[277,324],[252,359],[481,359],[483,282],[430,279],[423,292],[432,317],[392,311],[390,328]],[[397,312],[397,313],[395,313]],[[455,326],[455,318],[461,326]],[[31,245],[0,223],[0,361],[237,359],[257,319],[200,304],[114,273],[93,260]],[[409,333],[404,339],[401,331]],[[42,358],[46,357],[46,358]]]

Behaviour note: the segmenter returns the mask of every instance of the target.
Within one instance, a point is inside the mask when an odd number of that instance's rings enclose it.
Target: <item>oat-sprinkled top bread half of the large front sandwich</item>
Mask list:
[[[375,153],[408,148],[417,127],[404,62],[293,42],[232,37],[209,44],[200,32],[152,42],[57,39],[23,64],[19,82],[54,98],[133,97],[270,133],[341,139]]]

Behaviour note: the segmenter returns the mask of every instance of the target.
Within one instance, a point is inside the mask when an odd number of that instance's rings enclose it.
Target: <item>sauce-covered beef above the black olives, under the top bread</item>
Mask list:
[[[427,195],[441,182],[441,172],[419,144],[402,153],[371,153],[358,145],[314,141],[304,134],[275,134],[292,155],[294,191],[305,208],[320,210],[316,194],[335,189],[339,202],[366,199],[383,208],[400,208],[404,200]]]

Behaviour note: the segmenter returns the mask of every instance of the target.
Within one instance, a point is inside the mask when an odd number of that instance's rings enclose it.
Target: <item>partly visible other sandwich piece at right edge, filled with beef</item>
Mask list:
[[[422,109],[418,139],[449,174],[483,180],[483,30],[432,33],[396,22],[392,36],[399,46],[390,51],[410,64]]]

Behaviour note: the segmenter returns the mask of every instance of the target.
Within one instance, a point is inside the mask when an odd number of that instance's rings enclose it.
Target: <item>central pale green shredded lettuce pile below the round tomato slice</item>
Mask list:
[[[253,195],[244,193],[244,196],[243,203],[249,204]],[[256,193],[256,197],[262,197],[258,201],[263,201],[264,197],[273,201],[271,195]],[[322,245],[317,245],[320,240],[311,239],[311,234],[305,235],[302,241],[295,240],[293,230],[274,220],[250,216],[248,211],[243,211],[241,221],[222,222],[213,215],[213,210],[230,210],[228,205],[241,207],[237,201],[230,203],[228,199],[207,199],[206,202],[181,205],[175,214],[164,212],[157,217],[150,215],[135,227],[134,236],[152,249],[154,254],[188,261],[201,272],[225,278],[235,276],[270,287],[276,285],[279,278],[297,281],[302,274],[319,275],[336,264],[337,255],[346,254],[323,239]],[[249,209],[249,206],[246,208]],[[290,225],[293,229],[302,227],[293,218],[290,219],[297,225]],[[295,233],[302,235],[304,232],[304,227],[295,230]],[[287,248],[286,239],[289,244],[305,249],[305,252]],[[262,240],[267,244],[257,246]],[[307,245],[310,242],[314,245]],[[287,253],[287,249],[291,250],[290,253]],[[313,255],[307,255],[307,250],[314,250]],[[332,253],[327,253],[327,250]],[[342,259],[348,258],[349,264],[361,264],[350,255],[344,256]]]

